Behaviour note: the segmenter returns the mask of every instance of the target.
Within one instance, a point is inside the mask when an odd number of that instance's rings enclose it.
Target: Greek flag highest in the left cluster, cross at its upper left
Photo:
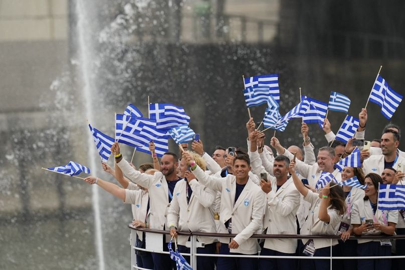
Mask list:
[[[182,107],[168,103],[149,104],[149,118],[156,120],[156,128],[168,130],[181,125],[187,125],[190,117]]]

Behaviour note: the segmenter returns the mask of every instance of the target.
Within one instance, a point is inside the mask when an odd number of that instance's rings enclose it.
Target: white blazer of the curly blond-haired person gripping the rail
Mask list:
[[[187,181],[179,181],[174,187],[173,199],[167,213],[167,223],[174,225],[178,231],[216,233],[214,206],[216,191],[201,185],[196,179],[190,181],[192,189],[189,203],[186,193]],[[178,243],[185,245],[188,236],[178,235]],[[211,244],[214,237],[197,236],[201,243]]]

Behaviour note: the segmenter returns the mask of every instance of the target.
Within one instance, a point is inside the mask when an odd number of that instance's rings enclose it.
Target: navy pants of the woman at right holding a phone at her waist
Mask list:
[[[379,241],[370,241],[366,243],[357,244],[357,255],[358,256],[390,256],[391,247],[382,246]],[[359,259],[358,260],[359,270],[390,270],[391,269],[391,259]]]

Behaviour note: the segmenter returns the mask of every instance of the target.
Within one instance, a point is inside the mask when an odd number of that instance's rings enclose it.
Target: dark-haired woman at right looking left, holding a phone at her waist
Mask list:
[[[377,209],[378,184],[382,184],[381,176],[369,173],[365,176],[363,200],[353,204],[351,224],[356,235],[393,235],[395,224],[398,221],[398,211]],[[357,256],[390,256],[391,241],[358,239]],[[391,268],[391,259],[359,259],[359,270],[388,270]]]

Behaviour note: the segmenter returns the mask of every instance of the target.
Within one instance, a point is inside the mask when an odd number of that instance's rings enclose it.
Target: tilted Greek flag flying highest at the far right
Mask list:
[[[402,101],[402,96],[393,91],[388,83],[378,75],[368,100],[378,104],[381,107],[382,115],[389,120]]]

